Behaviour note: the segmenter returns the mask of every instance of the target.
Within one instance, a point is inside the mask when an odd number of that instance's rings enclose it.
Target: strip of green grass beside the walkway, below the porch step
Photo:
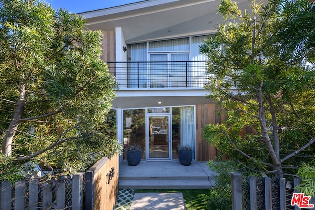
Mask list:
[[[187,210],[206,210],[207,201],[203,195],[208,195],[209,189],[138,189],[134,190],[134,192],[181,192],[183,193]]]

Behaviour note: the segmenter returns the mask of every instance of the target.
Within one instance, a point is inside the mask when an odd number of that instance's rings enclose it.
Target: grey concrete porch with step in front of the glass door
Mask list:
[[[214,172],[207,162],[193,161],[183,166],[178,161],[141,161],[137,166],[119,165],[120,189],[210,189]]]

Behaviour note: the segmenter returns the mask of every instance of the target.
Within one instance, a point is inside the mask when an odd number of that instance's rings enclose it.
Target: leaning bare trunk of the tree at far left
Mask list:
[[[20,85],[20,96],[18,97],[18,101],[15,106],[15,111],[13,115],[13,119],[9,125],[8,130],[5,133],[3,144],[2,144],[2,155],[11,156],[12,155],[12,142],[16,131],[18,130],[18,126],[20,124],[19,119],[21,119],[21,115],[24,107],[25,100],[25,85]]]

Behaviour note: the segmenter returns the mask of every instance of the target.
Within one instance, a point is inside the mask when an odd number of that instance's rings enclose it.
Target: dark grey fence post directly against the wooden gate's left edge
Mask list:
[[[94,210],[94,173],[87,171],[85,174],[85,210]]]

